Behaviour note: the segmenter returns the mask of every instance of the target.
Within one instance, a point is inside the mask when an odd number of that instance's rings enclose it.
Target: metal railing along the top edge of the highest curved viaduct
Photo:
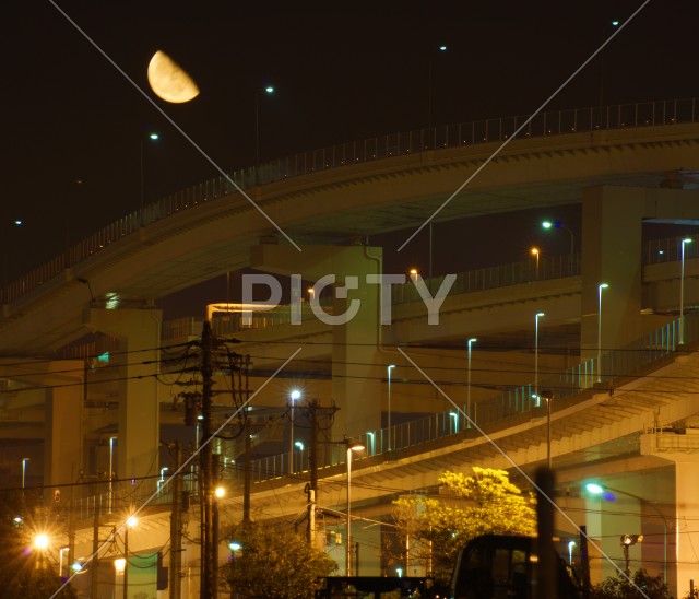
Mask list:
[[[229,177],[240,188],[248,189],[257,185],[265,185],[350,164],[425,151],[497,142],[511,138],[514,131],[529,118],[529,116],[501,117],[390,133],[301,152],[261,164],[258,167],[236,171]],[[656,101],[541,113],[520,132],[520,137],[549,137],[574,132],[697,122],[698,120],[697,98]],[[19,300],[24,294],[58,277],[67,268],[88,259],[125,236],[137,233],[142,226],[201,203],[228,196],[234,191],[235,187],[228,179],[215,177],[147,204],[142,210],[131,212],[21,279],[5,285],[0,290],[0,303],[9,304]]]

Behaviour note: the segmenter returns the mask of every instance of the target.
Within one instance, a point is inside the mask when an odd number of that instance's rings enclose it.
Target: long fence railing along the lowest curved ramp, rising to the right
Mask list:
[[[619,386],[635,376],[641,375],[651,368],[656,368],[664,361],[672,357],[678,350],[679,319],[643,336],[641,339],[621,348],[602,354],[601,365],[597,359],[587,360],[579,365],[560,373],[559,375],[544,377],[540,380],[538,389],[542,395],[545,389],[550,392],[552,401],[560,400],[591,389],[595,385],[602,389]],[[699,313],[690,312],[685,315],[685,340],[688,343],[699,340]],[[601,366],[601,367],[600,367]],[[436,381],[439,384],[439,381]],[[554,403],[555,404],[555,403]],[[470,416],[479,427],[494,426],[506,428],[512,419],[541,416],[542,401],[536,397],[532,385],[523,385],[502,389],[494,397],[475,401],[471,406]],[[445,439],[448,437],[461,438],[470,427],[466,414],[466,406],[447,410],[425,418],[418,418],[410,422],[401,423],[391,428],[367,431],[360,435],[366,451],[355,457],[362,459],[379,455],[390,455],[408,448],[417,448],[422,444]],[[474,431],[467,433],[476,435]],[[251,460],[250,472],[252,482],[259,483],[268,480],[288,475],[289,472],[303,474],[307,472],[305,466],[308,459],[308,450],[291,451]],[[293,462],[289,465],[289,460]],[[319,444],[317,462],[322,470],[342,465],[346,460],[346,449],[342,444]],[[189,491],[192,498],[198,494],[197,473],[185,474],[183,489]],[[242,465],[227,468],[224,482],[242,484]],[[76,517],[87,518],[99,509],[105,514],[109,510],[123,510],[123,506],[142,505],[152,497],[151,493],[139,493],[138,489],[127,482],[114,484],[111,495],[107,490],[108,481],[103,481],[103,492],[86,498],[73,502]],[[163,486],[150,504],[170,504],[171,495],[169,486]],[[111,509],[108,506],[112,506]]]

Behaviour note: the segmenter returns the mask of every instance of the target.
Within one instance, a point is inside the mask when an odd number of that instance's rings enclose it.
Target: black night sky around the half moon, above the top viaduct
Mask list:
[[[372,13],[327,8],[347,3],[58,4],[233,171],[254,162],[254,102],[265,84],[276,92],[260,96],[261,161],[426,127],[430,81],[434,125],[526,115],[612,34],[612,20],[642,2],[381,2]],[[601,92],[605,104],[699,95],[698,17],[698,2],[651,1],[547,109],[599,105]],[[217,175],[50,2],[5,2],[2,30],[10,278],[139,208],[142,142],[146,201]],[[192,75],[199,97],[173,105],[154,96],[146,67],[157,49]],[[150,142],[150,131],[161,139]],[[536,216],[502,259],[521,259],[514,254],[536,240]],[[26,224],[11,227],[15,218]],[[440,251],[451,250],[449,238],[440,235]]]

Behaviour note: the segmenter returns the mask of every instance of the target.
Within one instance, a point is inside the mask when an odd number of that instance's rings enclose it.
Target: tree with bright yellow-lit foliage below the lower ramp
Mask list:
[[[447,471],[439,482],[449,492],[446,498],[393,502],[401,537],[408,537],[413,545],[418,541],[411,559],[427,562],[431,557],[437,578],[451,575],[459,549],[475,537],[535,533],[534,500],[522,494],[505,470],[474,466],[470,477]]]

